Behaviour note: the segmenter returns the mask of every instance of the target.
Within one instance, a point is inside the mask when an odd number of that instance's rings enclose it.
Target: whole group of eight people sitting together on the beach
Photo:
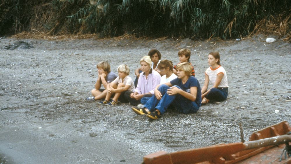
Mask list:
[[[129,102],[137,106],[132,107],[136,114],[146,115],[154,120],[160,118],[168,108],[189,114],[196,113],[201,104],[207,104],[211,100],[226,100],[227,75],[220,66],[219,53],[211,52],[208,55],[210,67],[205,71],[202,89],[195,78],[190,55],[191,51],[187,48],[179,50],[180,62],[173,66],[173,62],[161,60],[161,53],[152,49],[148,56],[141,58],[141,67],[135,70],[135,81],[128,76],[130,70],[126,64],[117,68],[117,76],[111,71],[108,62],[99,62],[95,89],[91,91],[92,97],[86,97],[85,100],[109,106]],[[212,85],[210,89],[209,82]],[[105,89],[100,89],[101,85]]]

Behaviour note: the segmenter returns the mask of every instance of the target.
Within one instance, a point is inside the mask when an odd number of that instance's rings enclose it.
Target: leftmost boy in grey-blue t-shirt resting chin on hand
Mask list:
[[[104,99],[107,94],[107,84],[111,83],[113,80],[115,80],[115,78],[117,78],[117,75],[114,72],[111,72],[110,64],[108,62],[99,62],[97,64],[97,72],[98,78],[95,83],[95,89],[91,90],[92,97],[86,97],[86,101]],[[105,89],[100,89],[101,85],[103,85]]]

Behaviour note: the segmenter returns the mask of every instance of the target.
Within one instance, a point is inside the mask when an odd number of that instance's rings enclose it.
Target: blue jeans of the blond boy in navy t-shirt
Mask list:
[[[179,89],[181,89],[179,86],[175,86]],[[155,111],[155,109],[158,109],[161,114],[164,114],[166,112],[166,109],[172,104],[175,109],[180,111],[184,114],[189,113],[196,113],[200,107],[199,104],[196,104],[196,102],[191,101],[184,96],[180,94],[176,95],[168,95],[167,90],[169,89],[169,86],[166,86],[162,84],[159,86],[158,90],[163,95],[161,100],[158,100],[155,95],[153,95],[148,102],[144,105],[145,108],[148,108],[150,112]]]

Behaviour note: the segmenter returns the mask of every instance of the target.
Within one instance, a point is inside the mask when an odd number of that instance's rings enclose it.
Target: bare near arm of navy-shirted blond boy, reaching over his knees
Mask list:
[[[197,95],[197,87],[191,87],[190,88],[190,93],[185,92],[182,89],[179,89],[175,86],[171,87],[170,89],[167,90],[167,93],[169,95],[176,95],[176,94],[180,94],[183,97],[185,97],[186,99],[189,99],[191,101],[195,101],[196,100],[196,95]]]

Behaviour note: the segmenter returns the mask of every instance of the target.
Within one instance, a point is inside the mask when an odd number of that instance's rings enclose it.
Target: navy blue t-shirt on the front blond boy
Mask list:
[[[182,83],[181,79],[175,78],[172,81],[170,81],[170,83],[172,86],[175,86],[175,85],[179,86],[182,90],[184,90],[187,93],[190,93],[191,87],[197,87],[197,94],[196,94],[195,102],[197,104],[201,104],[201,88],[200,88],[200,84],[197,78],[195,78],[194,76],[190,76],[185,84]]]

